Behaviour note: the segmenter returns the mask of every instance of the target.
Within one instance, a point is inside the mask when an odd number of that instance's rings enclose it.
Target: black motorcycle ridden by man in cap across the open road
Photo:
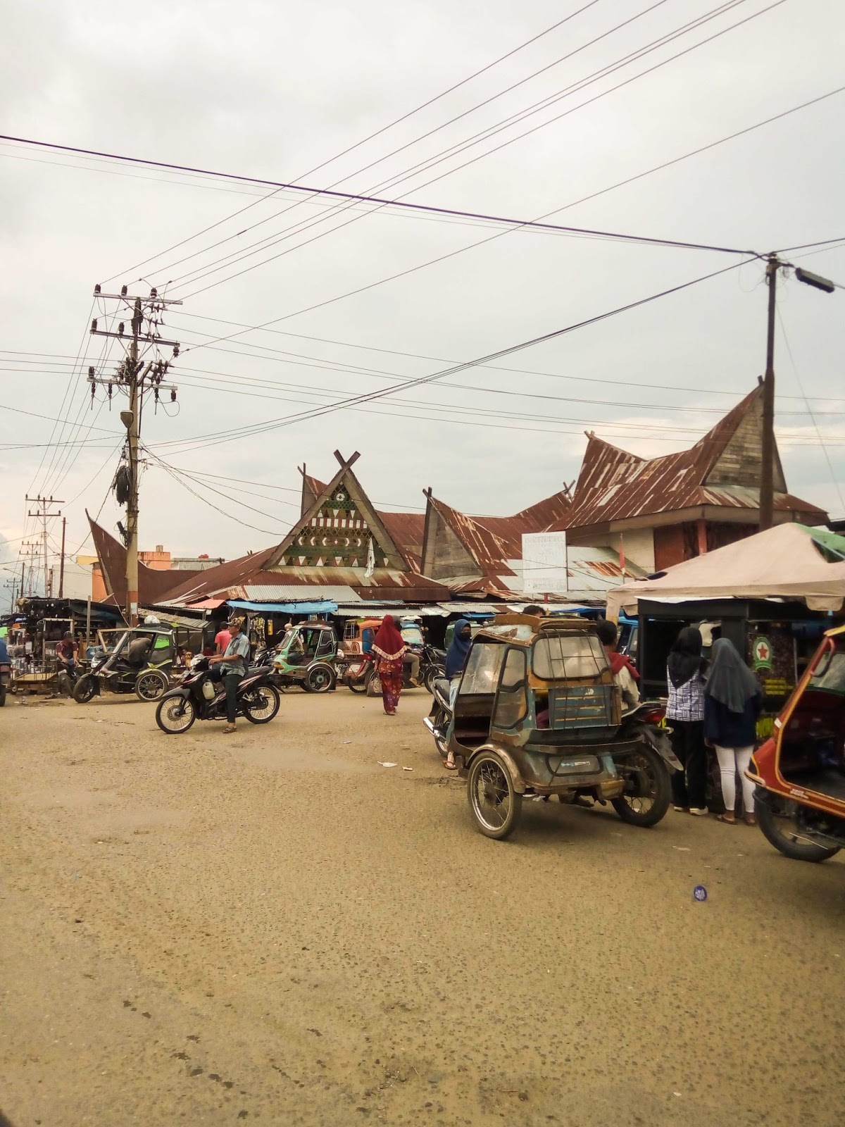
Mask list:
[[[238,685],[237,715],[250,724],[269,724],[278,712],[278,690],[270,683],[267,665],[252,666]],[[176,689],[159,701],[155,724],[169,736],[187,731],[194,720],[214,720],[226,715],[226,694],[212,677],[207,657],[197,656]]]

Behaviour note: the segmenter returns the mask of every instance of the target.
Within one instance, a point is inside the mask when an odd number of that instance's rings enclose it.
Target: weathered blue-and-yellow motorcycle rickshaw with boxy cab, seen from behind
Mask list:
[[[588,620],[498,615],[472,642],[448,751],[483,834],[502,838],[523,796],[611,801],[650,826],[668,809],[668,770],[641,738],[621,738],[622,701]]]

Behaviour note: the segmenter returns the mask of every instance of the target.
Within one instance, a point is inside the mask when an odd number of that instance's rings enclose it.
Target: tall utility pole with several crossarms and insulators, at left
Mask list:
[[[97,328],[97,319],[91,322],[91,334],[98,337],[115,337],[124,343],[126,356],[117,369],[114,376],[98,376],[92,367],[88,370],[88,380],[91,384],[91,402],[96,393],[97,385],[105,385],[108,389],[108,398],[112,399],[114,388],[117,385],[126,392],[128,398],[128,410],[121,411],[121,421],[126,427],[126,478],[125,489],[122,489],[118,499],[125,492],[126,503],[126,607],[125,616],[131,627],[137,625],[137,517],[139,517],[139,442],[141,434],[141,412],[143,409],[144,394],[151,392],[155,403],[160,401],[162,391],[170,392],[170,400],[176,400],[176,385],[164,384],[163,379],[170,367],[170,361],[162,361],[159,357],[161,347],[172,348],[172,357],[179,355],[178,340],[163,340],[158,329],[161,323],[160,314],[168,305],[181,305],[180,301],[170,301],[159,298],[155,290],[150,291],[149,298],[131,295],[123,286],[119,294],[104,294],[97,285],[94,287],[95,298],[117,301],[132,310],[132,335],[125,334],[125,322],[121,322],[117,332]],[[144,332],[144,322],[149,325],[150,331]],[[142,353],[152,350],[153,358],[144,362]],[[118,474],[119,474],[118,469]],[[115,476],[115,487],[117,487],[117,474]],[[117,488],[115,489],[117,492]]]

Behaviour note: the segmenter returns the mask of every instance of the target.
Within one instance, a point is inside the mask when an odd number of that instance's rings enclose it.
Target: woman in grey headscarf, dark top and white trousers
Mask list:
[[[757,739],[760,690],[757,678],[728,638],[713,642],[710,673],[704,687],[704,737],[715,748],[722,778],[724,814],[720,822],[736,824],[736,774],[742,780],[745,820],[756,824],[754,783],[745,773]]]

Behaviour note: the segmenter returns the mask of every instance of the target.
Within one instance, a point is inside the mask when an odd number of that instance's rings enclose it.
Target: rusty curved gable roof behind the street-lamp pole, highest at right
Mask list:
[[[571,512],[550,531],[607,526],[684,509],[759,508],[763,388],[757,385],[694,446],[644,459],[590,433]],[[827,514],[786,491],[775,446],[775,511],[810,524]]]

